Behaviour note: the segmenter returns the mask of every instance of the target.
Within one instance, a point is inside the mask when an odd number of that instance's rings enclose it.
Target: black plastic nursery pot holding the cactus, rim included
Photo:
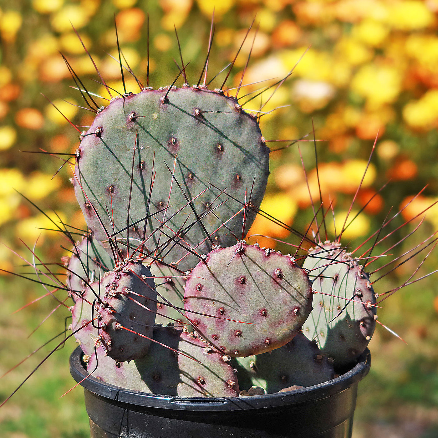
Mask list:
[[[80,382],[81,348],[70,357]],[[81,382],[91,438],[350,438],[357,385],[370,369],[369,350],[350,371],[320,385],[263,396],[198,398],[122,389],[89,376]]]

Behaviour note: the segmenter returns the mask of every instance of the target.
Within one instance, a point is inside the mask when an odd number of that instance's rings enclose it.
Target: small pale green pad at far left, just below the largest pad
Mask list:
[[[93,283],[95,279],[114,268],[114,262],[103,249],[99,241],[91,235],[84,236],[72,250],[67,264],[67,286],[73,291],[69,296],[76,301],[77,293],[85,289],[86,280]],[[100,275],[99,275],[100,274]]]

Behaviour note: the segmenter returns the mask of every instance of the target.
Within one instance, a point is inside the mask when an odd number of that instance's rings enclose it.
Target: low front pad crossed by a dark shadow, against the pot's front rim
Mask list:
[[[112,385],[166,396],[228,397],[239,394],[230,357],[213,350],[197,335],[171,325],[156,326],[153,339],[156,342],[148,353],[129,363],[114,361],[99,346],[97,367],[93,353],[87,371]]]

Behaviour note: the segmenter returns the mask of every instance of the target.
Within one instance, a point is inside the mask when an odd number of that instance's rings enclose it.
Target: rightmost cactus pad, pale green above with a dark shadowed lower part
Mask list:
[[[334,366],[349,364],[363,353],[376,324],[376,307],[372,306],[376,297],[369,276],[345,249],[332,243],[311,248],[303,267],[316,276],[317,292],[303,333],[318,342]]]

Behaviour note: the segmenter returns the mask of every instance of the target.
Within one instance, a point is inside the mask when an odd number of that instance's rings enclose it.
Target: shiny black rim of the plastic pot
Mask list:
[[[147,392],[134,391],[120,388],[105,383],[98,378],[89,375],[84,368],[82,361],[84,353],[81,347],[77,347],[70,356],[71,376],[81,386],[97,396],[106,399],[116,400],[121,403],[144,406],[148,408],[159,408],[166,410],[189,410],[189,411],[236,411],[245,409],[268,408],[275,406],[294,405],[308,402],[314,399],[324,399],[344,391],[353,384],[362,380],[370,370],[371,353],[366,349],[357,359],[358,363],[346,373],[332,380],[297,389],[289,392],[276,392],[261,396],[245,397],[179,397],[150,394]]]

